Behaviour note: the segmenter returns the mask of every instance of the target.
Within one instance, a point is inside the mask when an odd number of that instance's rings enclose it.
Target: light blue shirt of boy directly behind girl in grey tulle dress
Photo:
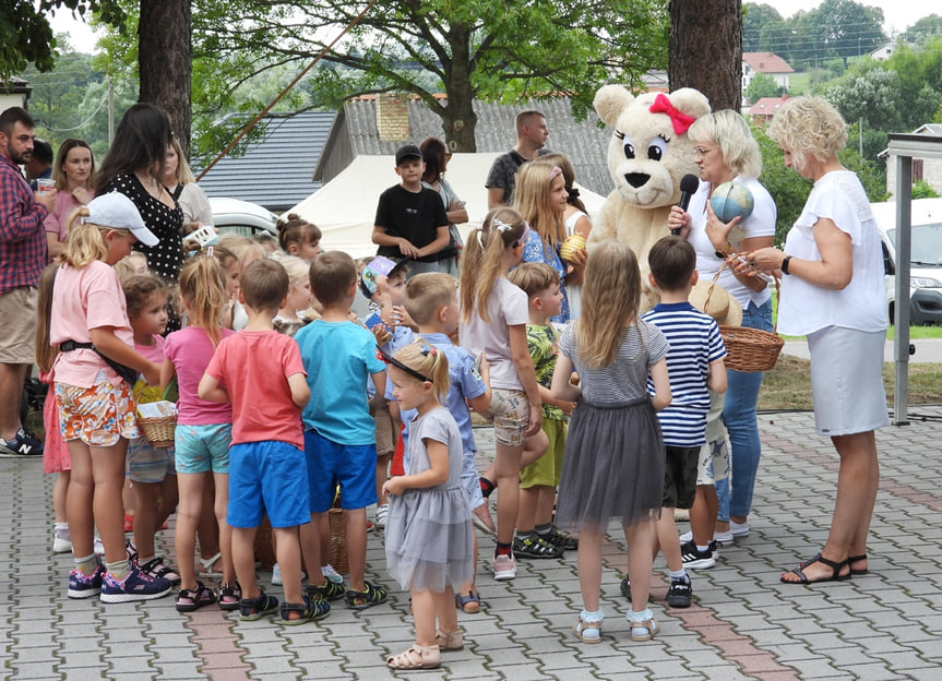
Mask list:
[[[474,429],[470,422],[470,411],[465,401],[484,395],[487,392],[487,384],[477,370],[474,357],[465,348],[454,345],[445,334],[421,334],[421,337],[444,353],[449,360],[450,385],[445,407],[448,407],[448,410],[458,425],[463,450],[465,452],[477,452],[477,444],[474,441]],[[395,399],[393,397],[392,383],[386,384],[386,398]],[[415,409],[402,411],[402,420],[405,423],[403,444],[406,452],[406,459],[403,462],[403,466],[406,470],[409,469],[407,458],[409,451],[409,422],[415,416]]]

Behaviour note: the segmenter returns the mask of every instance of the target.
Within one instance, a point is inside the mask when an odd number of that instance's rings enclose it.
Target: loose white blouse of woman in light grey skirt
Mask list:
[[[826,217],[850,235],[854,276],[842,290],[782,277],[778,331],[806,335],[826,326],[858,331],[886,330],[883,249],[863,186],[854,172],[835,170],[820,178],[785,240],[785,252],[799,260],[821,260],[814,224]]]

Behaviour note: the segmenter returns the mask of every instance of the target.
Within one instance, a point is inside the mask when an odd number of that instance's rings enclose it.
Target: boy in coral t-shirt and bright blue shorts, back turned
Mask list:
[[[301,592],[298,526],[311,518],[300,409],[308,404],[310,391],[298,346],[272,327],[288,286],[288,273],[274,260],[246,265],[239,301],[249,323],[219,343],[198,392],[207,402],[232,403],[226,519],[232,528],[232,562],[242,587],[241,618],[258,620],[278,610],[285,624],[299,624],[326,617],[330,606],[309,601]],[[282,566],[286,602],[281,607],[255,580],[254,539],[265,513]]]

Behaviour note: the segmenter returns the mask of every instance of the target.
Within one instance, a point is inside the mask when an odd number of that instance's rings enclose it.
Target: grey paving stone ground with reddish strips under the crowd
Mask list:
[[[632,643],[619,595],[624,538],[606,546],[599,645],[572,634],[581,608],[574,554],[521,561],[512,582],[478,569],[479,614],[460,613],[465,649],[439,670],[386,670],[413,641],[408,594],[362,612],[342,602],[321,623],[240,622],[172,598],[105,606],[65,597],[71,555],[51,553],[53,476],[38,461],[0,459],[2,679],[942,679],[942,406],[914,406],[910,425],[878,433],[882,480],[870,574],[813,587],[780,584],[783,569],[818,552],[831,521],[837,458],[809,413],[760,415],[763,458],[751,534],[693,574],[695,605],[670,609],[663,560],[652,607],[660,633]],[[481,465],[492,431],[476,430]],[[171,523],[172,527],[172,523]],[[681,527],[684,529],[683,527]],[[172,550],[170,531],[159,545]],[[481,555],[493,548],[480,541]],[[369,536],[368,578],[389,584],[382,534]],[[270,577],[261,574],[263,583]],[[277,587],[273,594],[279,594]]]

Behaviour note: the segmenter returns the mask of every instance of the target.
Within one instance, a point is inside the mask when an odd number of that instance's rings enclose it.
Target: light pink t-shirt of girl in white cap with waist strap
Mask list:
[[[49,343],[59,345],[65,340],[91,343],[90,328],[108,327],[115,335],[134,346],[134,333],[128,321],[124,291],[115,271],[95,260],[81,270],[62,265],[56,274],[52,288],[52,312],[49,323]],[[105,370],[112,381],[121,379],[105,363],[95,350],[81,349],[59,353],[52,371],[57,383],[92,387],[95,377]]]

